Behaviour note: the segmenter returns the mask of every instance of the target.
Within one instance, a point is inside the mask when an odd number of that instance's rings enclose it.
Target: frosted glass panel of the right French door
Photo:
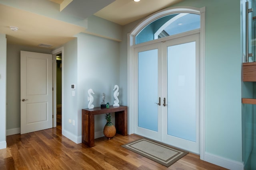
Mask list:
[[[167,49],[168,135],[196,142],[196,42]]]

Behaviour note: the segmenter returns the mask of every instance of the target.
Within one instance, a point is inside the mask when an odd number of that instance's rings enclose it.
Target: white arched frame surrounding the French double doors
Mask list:
[[[134,66],[135,66],[135,57],[134,57],[134,45],[135,44],[135,35],[139,33],[145,25],[148,25],[157,18],[166,16],[167,14],[177,14],[177,13],[193,13],[200,15],[200,159],[204,160],[205,157],[205,7],[202,8],[192,8],[192,7],[174,7],[166,8],[160,10],[148,18],[140,22],[132,31],[128,33],[128,134],[134,133],[134,111],[135,104],[134,99],[136,94],[134,86]],[[168,39],[168,37],[166,37]],[[160,41],[164,41],[165,38],[162,38]],[[148,42],[156,43],[158,39]],[[143,43],[144,45],[146,43]]]

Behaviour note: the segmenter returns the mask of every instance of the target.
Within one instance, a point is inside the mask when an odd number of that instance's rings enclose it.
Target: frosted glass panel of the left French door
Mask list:
[[[138,127],[158,131],[158,49],[138,53]]]

